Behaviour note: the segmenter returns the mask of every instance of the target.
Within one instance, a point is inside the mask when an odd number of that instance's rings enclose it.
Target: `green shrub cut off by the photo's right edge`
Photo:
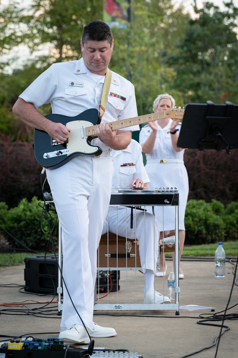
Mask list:
[[[231,202],[227,205],[224,212],[224,222],[226,226],[227,240],[238,238],[238,202]]]

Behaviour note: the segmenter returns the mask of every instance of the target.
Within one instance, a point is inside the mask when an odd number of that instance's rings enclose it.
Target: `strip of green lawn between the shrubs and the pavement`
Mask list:
[[[217,249],[218,244],[204,244],[194,246],[184,246],[182,253],[183,256],[187,257],[198,257],[198,256],[211,256],[213,257]],[[226,256],[236,257],[238,253],[238,240],[226,241],[222,244]],[[37,256],[35,253],[0,253],[0,266],[13,266],[24,263],[24,258],[28,256]],[[172,254],[166,253],[166,256],[170,257]]]

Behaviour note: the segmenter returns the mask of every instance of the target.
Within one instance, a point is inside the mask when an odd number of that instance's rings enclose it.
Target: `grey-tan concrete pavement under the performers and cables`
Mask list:
[[[172,269],[172,262],[167,261],[168,269],[165,277],[165,294],[167,294],[167,277]],[[180,280],[180,305],[200,305],[215,307],[215,312],[225,309],[233,281],[232,265],[226,263],[224,278],[214,277],[214,262],[185,262],[181,263],[185,279]],[[128,272],[128,287],[133,286],[135,271]],[[156,290],[162,292],[163,279],[156,277]],[[24,286],[24,265],[0,267],[0,284],[17,283]],[[125,295],[125,271],[121,271],[120,295]],[[140,301],[143,295],[144,276],[137,272],[137,297]],[[15,287],[0,287],[0,304],[19,303],[25,300],[44,302],[53,296],[35,296],[22,294]],[[132,300],[134,291],[128,291],[128,299]],[[133,297],[132,297],[133,296]],[[103,300],[106,300],[107,297]],[[55,299],[57,301],[57,298]],[[30,302],[30,301],[28,301]],[[105,303],[106,303],[105,302]],[[110,293],[110,302],[116,303],[116,292]],[[234,286],[230,306],[238,303],[238,287]],[[27,308],[40,305],[28,305]],[[56,306],[52,304],[50,306]],[[237,307],[228,313],[237,313]],[[10,307],[11,309],[14,306]],[[24,308],[24,307],[23,307]],[[0,306],[0,309],[3,306]],[[31,315],[0,315],[0,334],[18,336],[21,334],[35,334],[38,338],[58,337],[60,319],[47,316],[35,317]],[[6,312],[5,313],[10,313]],[[144,358],[179,358],[195,350],[207,347],[214,342],[219,334],[219,327],[198,325],[199,314],[211,313],[211,310],[188,311],[181,310],[175,316],[174,311],[95,311],[94,321],[102,326],[111,326],[116,329],[117,335],[110,338],[95,338],[95,347],[106,349],[128,349],[138,352]],[[221,323],[221,322],[220,322]],[[219,322],[218,322],[219,324]],[[225,356],[237,358],[238,327],[237,321],[225,322],[230,327],[220,339],[217,358]],[[51,333],[48,333],[51,332]],[[54,333],[52,333],[54,332]],[[2,340],[3,338],[1,338]],[[85,347],[85,346],[84,346]],[[215,347],[204,350],[195,355],[197,358],[212,358],[215,356]]]

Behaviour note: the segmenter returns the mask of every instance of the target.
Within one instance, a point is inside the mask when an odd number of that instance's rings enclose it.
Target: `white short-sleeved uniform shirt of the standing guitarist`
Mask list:
[[[99,111],[104,80],[105,76],[95,75],[88,70],[83,58],[76,61],[54,63],[35,79],[19,97],[26,102],[33,103],[37,109],[44,103],[51,102],[52,113],[73,117],[88,108],[96,108]],[[110,93],[123,97],[125,100]],[[102,123],[136,116],[137,108],[133,84],[119,74],[112,72],[111,86]],[[140,130],[140,128],[139,125],[136,125],[120,130],[135,131]],[[109,148],[98,138],[94,139],[91,144],[101,147],[102,150]]]

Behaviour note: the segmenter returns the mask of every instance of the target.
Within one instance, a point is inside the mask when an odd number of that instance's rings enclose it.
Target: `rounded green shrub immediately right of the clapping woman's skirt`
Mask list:
[[[185,212],[186,244],[200,245],[224,241],[225,223],[222,216],[216,212],[223,212],[223,204],[213,200],[206,203],[205,200],[191,199],[187,203]]]

